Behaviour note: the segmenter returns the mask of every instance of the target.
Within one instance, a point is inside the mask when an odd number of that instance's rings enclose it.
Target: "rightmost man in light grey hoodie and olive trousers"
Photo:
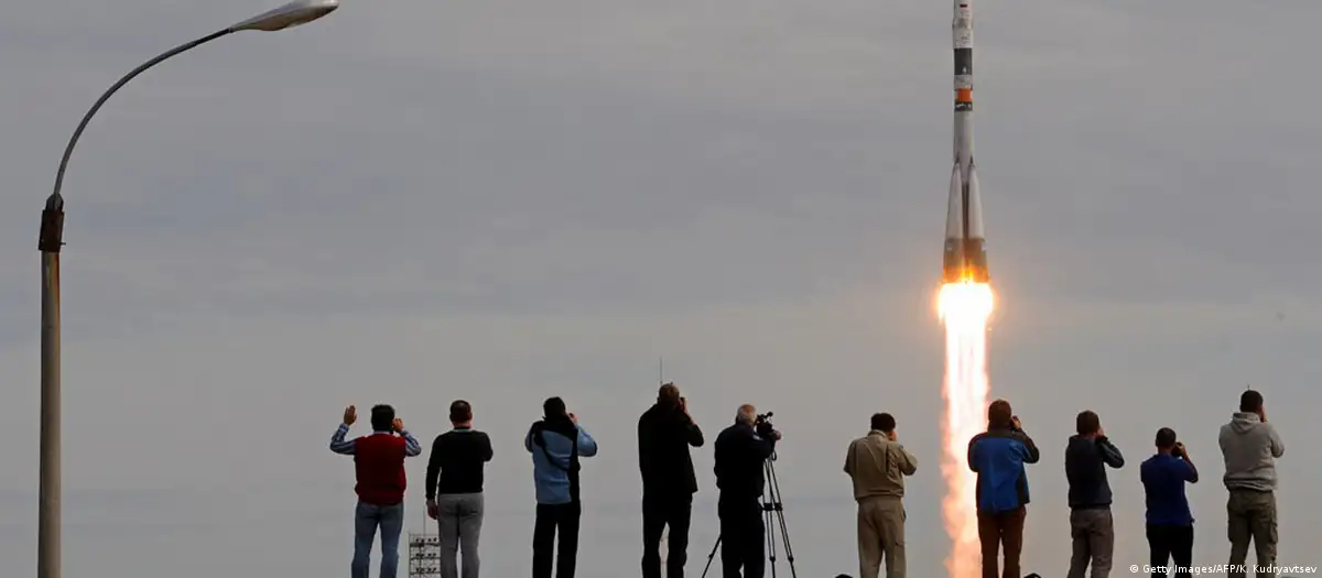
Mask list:
[[[1227,534],[1231,540],[1231,578],[1245,578],[1249,541],[1257,549],[1257,575],[1276,577],[1276,458],[1285,455],[1285,442],[1266,422],[1263,395],[1248,389],[1240,410],[1222,426],[1222,457],[1225,458]]]

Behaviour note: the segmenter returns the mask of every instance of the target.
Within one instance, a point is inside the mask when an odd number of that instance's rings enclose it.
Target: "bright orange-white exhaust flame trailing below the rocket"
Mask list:
[[[945,567],[951,578],[977,578],[981,574],[978,515],[974,501],[977,475],[968,466],[969,439],[982,429],[988,393],[988,318],[994,297],[985,282],[945,284],[937,297],[937,310],[945,325],[945,416],[941,442],[945,455],[941,475],[947,495],[943,501],[945,532],[951,536],[951,556]]]

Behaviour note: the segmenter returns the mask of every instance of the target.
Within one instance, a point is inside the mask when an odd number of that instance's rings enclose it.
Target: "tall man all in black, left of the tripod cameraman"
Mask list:
[[[661,578],[661,532],[670,527],[666,577],[683,578],[689,521],[698,478],[689,446],[702,447],[702,430],[673,383],[661,385],[657,402],[639,418],[639,471],[642,474],[642,578]]]

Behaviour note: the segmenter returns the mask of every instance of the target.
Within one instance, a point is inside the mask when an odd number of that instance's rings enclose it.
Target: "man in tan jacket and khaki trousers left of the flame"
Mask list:
[[[895,438],[895,417],[873,416],[871,432],[849,445],[845,474],[858,501],[859,578],[876,578],[882,558],[886,577],[904,578],[904,476],[917,471],[917,458]]]

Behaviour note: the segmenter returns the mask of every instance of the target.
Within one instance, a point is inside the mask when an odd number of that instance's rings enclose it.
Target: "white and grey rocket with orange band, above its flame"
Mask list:
[[[954,169],[945,215],[943,282],[988,282],[984,248],[982,198],[973,164],[973,9],[972,0],[954,0],[951,25],[954,46]]]

